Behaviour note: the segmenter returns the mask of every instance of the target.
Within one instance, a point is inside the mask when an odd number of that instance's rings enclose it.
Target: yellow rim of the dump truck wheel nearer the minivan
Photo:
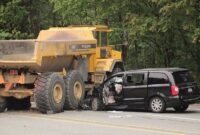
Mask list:
[[[82,97],[82,93],[83,93],[82,85],[81,85],[81,83],[79,81],[76,81],[74,83],[74,97],[77,100],[80,100],[81,97]]]

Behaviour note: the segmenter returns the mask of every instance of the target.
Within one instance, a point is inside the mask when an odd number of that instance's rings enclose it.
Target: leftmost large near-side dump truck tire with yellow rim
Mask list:
[[[57,73],[40,75],[35,82],[35,102],[42,113],[59,113],[65,102],[65,83]]]

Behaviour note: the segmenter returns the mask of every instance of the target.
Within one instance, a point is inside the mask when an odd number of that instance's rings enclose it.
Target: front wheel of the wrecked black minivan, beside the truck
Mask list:
[[[99,98],[93,98],[91,103],[91,108],[93,111],[101,111],[103,110],[104,105]]]

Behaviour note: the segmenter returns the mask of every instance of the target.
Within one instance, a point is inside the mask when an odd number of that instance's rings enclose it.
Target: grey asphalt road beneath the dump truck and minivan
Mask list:
[[[0,113],[0,135],[200,135],[200,105],[185,113],[30,111]]]

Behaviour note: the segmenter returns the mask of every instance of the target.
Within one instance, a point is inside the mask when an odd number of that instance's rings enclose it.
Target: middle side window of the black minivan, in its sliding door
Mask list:
[[[136,73],[136,74],[127,74],[126,75],[126,85],[144,85],[144,74]]]

